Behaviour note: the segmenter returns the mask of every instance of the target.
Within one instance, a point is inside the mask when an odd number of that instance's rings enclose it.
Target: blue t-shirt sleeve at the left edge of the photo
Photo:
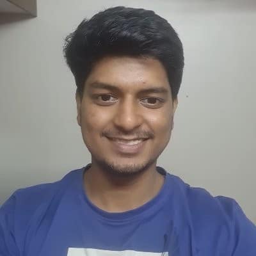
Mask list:
[[[19,256],[15,243],[15,195],[0,207],[0,256]]]

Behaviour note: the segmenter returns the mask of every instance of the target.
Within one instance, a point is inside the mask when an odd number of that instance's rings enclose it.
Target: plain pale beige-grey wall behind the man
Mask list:
[[[90,161],[63,38],[84,17],[117,4],[155,10],[184,43],[175,128],[159,165],[191,186],[236,198],[256,223],[253,1],[44,0],[35,19],[0,19],[0,203]]]

